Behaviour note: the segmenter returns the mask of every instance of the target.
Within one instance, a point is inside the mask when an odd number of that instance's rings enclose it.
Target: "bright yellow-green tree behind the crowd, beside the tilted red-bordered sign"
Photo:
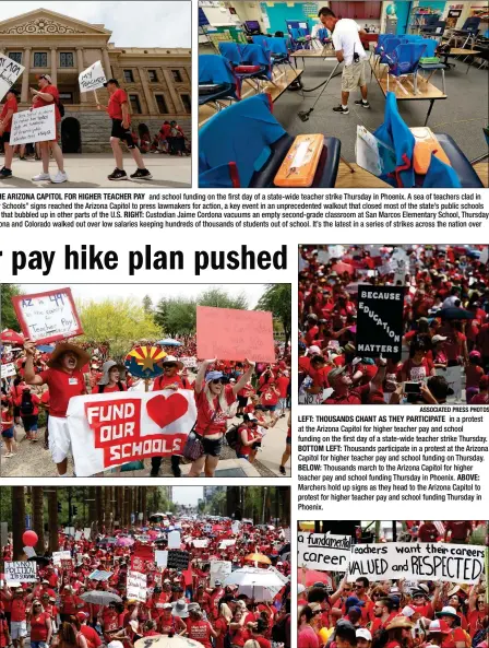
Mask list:
[[[133,298],[81,302],[77,304],[85,342],[110,344],[114,358],[122,360],[138,340],[159,338],[160,329]]]

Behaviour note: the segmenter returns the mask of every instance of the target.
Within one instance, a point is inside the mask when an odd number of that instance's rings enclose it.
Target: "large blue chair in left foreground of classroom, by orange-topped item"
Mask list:
[[[272,188],[294,140],[272,115],[269,95],[234,104],[199,132],[199,186]],[[339,140],[324,138],[313,187],[334,187],[339,150]]]

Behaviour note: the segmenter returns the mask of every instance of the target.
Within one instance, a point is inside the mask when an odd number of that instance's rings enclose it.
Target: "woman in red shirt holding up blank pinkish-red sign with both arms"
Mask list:
[[[207,368],[214,360],[205,360],[195,377],[196,423],[195,435],[201,437],[203,455],[195,461],[189,476],[199,476],[204,469],[205,476],[214,476],[223,447],[226,432],[226,421],[229,419],[229,408],[236,401],[238,391],[243,389],[253,374],[254,363],[248,362],[248,368],[234,385],[226,385],[220,372],[210,372]]]

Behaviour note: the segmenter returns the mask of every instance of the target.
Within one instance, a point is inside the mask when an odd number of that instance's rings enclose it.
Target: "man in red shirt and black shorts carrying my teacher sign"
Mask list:
[[[109,93],[108,106],[97,104],[98,110],[105,109],[112,120],[112,131],[110,133],[110,145],[112,148],[114,157],[116,158],[116,168],[107,176],[109,180],[127,180],[128,174],[123,169],[122,149],[120,141],[124,141],[132,158],[138,165],[135,173],[131,174],[131,178],[135,180],[150,180],[153,176],[144,166],[141,151],[134,144],[130,129],[131,117],[129,115],[128,95],[124,90],[119,87],[117,79],[109,79],[104,83]]]

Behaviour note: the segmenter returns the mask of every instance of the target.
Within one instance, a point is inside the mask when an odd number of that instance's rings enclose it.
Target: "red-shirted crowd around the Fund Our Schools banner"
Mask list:
[[[290,353],[276,344],[274,364],[206,360],[198,362],[195,338],[179,345],[162,347],[167,355],[159,361],[163,374],[145,385],[131,376],[120,358],[114,360],[107,341],[59,343],[52,350],[26,341],[23,346],[9,345],[2,353],[2,364],[14,363],[16,374],[2,379],[3,458],[11,458],[19,448],[15,437],[24,428],[26,439],[38,441],[39,413],[46,417],[45,447],[50,449],[58,473],[67,473],[70,433],[67,410],[70,398],[84,393],[110,393],[127,390],[189,389],[195,398],[198,417],[192,438],[201,444],[199,457],[192,456],[190,474],[202,471],[212,476],[223,450],[228,444],[238,458],[250,462],[265,434],[290,408]],[[143,340],[134,346],[155,345]],[[192,361],[187,368],[180,358]],[[190,431],[188,431],[190,432]],[[290,458],[290,421],[283,450],[281,473]],[[180,456],[171,457],[175,476],[181,475]],[[157,476],[162,457],[153,457],[152,475]]]

